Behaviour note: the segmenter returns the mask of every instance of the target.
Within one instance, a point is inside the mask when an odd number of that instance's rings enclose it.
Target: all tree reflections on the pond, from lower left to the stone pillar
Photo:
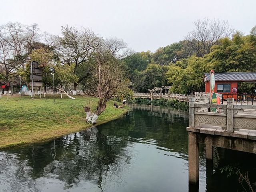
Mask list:
[[[8,156],[2,157],[8,160],[1,162],[0,168],[12,176],[8,186],[14,190],[7,191],[36,191],[47,184],[47,179],[63,181],[64,189],[79,186],[80,182],[96,184],[101,190],[112,188],[114,183],[125,184],[124,174],[132,164],[132,146],[136,142],[153,144],[162,154],[187,159],[188,112],[141,107],[144,109],[135,109],[97,128],[34,147],[0,152]],[[20,189],[16,183],[25,186]],[[0,181],[0,185],[4,184]]]

